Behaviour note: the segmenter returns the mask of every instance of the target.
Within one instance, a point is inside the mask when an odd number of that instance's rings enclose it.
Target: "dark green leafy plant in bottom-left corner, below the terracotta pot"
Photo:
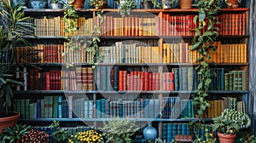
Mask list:
[[[13,143],[22,140],[28,134],[30,127],[26,126],[26,124],[15,124],[14,127],[5,128],[0,133],[0,141],[2,143]]]

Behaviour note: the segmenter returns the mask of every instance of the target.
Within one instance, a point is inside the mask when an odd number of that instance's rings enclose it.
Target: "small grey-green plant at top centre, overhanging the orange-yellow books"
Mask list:
[[[125,17],[125,14],[130,14],[131,9],[136,9],[137,4],[133,0],[119,0],[117,1],[119,7],[119,14]]]

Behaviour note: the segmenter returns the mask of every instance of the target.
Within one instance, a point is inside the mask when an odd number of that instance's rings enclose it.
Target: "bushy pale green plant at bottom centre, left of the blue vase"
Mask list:
[[[119,117],[110,120],[108,123],[103,123],[102,132],[108,140],[113,143],[131,142],[131,135],[137,131],[137,124],[126,118]]]

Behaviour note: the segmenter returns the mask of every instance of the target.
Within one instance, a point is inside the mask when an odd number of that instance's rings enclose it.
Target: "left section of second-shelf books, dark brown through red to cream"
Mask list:
[[[19,63],[92,63],[94,61],[93,52],[84,48],[81,43],[73,43],[73,46],[77,49],[70,49],[63,44],[18,47],[16,60]]]

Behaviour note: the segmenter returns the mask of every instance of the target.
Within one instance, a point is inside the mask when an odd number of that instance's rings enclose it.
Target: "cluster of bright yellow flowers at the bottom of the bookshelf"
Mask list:
[[[82,142],[86,142],[86,143],[100,143],[102,142],[103,138],[102,138],[102,134],[96,132],[95,130],[88,130],[88,131],[84,131],[84,132],[78,132],[74,135],[70,136],[70,139],[68,140],[69,143],[82,143]]]

